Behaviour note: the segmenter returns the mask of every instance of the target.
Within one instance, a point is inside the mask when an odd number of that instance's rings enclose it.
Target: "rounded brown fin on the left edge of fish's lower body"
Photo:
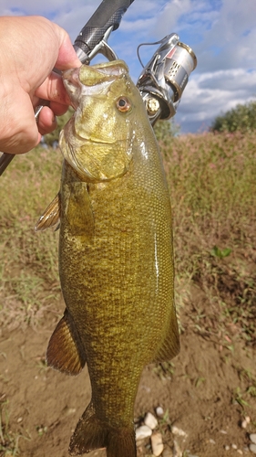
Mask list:
[[[73,376],[86,365],[84,347],[67,310],[50,338],[46,362],[48,367]]]

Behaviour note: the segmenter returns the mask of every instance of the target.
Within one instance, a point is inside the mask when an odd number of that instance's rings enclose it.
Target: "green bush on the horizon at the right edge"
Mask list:
[[[250,132],[256,129],[256,101],[244,105],[218,116],[212,123],[210,130],[218,132]]]

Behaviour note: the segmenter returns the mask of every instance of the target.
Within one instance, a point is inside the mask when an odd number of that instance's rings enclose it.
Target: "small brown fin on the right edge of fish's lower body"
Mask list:
[[[170,317],[169,330],[153,362],[165,362],[179,354],[179,327],[175,312]]]

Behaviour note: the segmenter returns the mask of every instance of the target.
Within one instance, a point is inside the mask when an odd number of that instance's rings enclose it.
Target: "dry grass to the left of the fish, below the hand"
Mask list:
[[[58,191],[60,154],[36,149],[16,157],[1,177],[0,324],[37,324],[60,297],[57,234],[34,231]]]

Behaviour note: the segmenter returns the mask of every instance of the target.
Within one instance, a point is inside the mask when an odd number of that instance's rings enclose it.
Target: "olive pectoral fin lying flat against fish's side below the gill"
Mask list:
[[[67,221],[75,237],[94,238],[94,216],[91,201],[85,183],[77,182],[68,185]]]

